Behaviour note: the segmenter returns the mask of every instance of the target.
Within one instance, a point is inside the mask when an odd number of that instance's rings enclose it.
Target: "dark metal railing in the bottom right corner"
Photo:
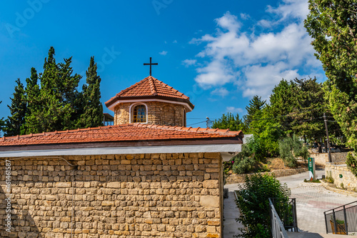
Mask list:
[[[357,201],[323,212],[326,233],[357,232]]]

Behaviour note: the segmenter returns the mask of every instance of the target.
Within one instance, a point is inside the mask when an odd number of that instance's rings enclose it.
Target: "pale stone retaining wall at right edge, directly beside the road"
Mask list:
[[[340,174],[342,178],[340,178]],[[331,176],[334,179],[336,187],[345,187],[347,190],[357,190],[357,177],[352,174],[346,164],[331,164],[326,163],[325,176]]]

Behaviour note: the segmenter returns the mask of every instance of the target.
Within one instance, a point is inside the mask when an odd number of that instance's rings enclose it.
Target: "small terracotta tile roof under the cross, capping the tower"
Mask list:
[[[106,106],[110,106],[118,99],[133,98],[138,96],[166,97],[174,101],[176,99],[186,101],[188,104],[191,104],[189,97],[185,94],[174,89],[172,86],[155,79],[153,76],[148,76],[136,84],[129,86],[129,88],[121,90],[118,94],[116,94],[116,96],[109,99],[109,101],[106,101]]]

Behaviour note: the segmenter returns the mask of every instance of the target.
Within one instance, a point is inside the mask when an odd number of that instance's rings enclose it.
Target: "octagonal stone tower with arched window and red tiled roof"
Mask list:
[[[186,127],[186,113],[193,110],[188,96],[148,76],[106,101],[114,111],[114,125],[128,123]]]

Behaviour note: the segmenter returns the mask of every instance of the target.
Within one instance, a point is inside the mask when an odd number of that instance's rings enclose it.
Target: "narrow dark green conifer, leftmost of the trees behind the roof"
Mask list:
[[[10,98],[11,99],[11,98]],[[6,119],[4,127],[4,136],[11,137],[21,134],[21,126],[25,122],[26,114],[26,96],[24,84],[20,79],[16,80],[15,92],[11,99],[11,106],[9,106],[11,116]]]

